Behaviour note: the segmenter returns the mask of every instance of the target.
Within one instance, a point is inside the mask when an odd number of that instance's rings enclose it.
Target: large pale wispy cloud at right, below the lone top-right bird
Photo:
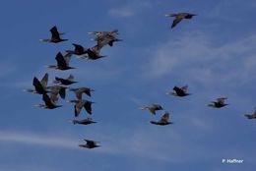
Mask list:
[[[216,46],[204,34],[188,34],[159,44],[150,58],[145,76],[175,76],[202,84],[244,84],[256,67],[256,35]],[[150,71],[150,72],[149,72]]]

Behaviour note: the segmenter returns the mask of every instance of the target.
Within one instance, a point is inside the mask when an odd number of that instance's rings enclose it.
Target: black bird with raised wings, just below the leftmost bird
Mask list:
[[[57,107],[61,107],[61,105],[57,105],[58,97],[55,92],[51,93],[51,97],[49,97],[46,93],[42,94],[42,100],[44,101],[44,104],[37,104],[34,106],[44,109],[55,109]]]

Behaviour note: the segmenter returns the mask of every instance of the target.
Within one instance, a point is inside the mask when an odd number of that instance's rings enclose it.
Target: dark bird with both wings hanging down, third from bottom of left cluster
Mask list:
[[[79,99],[79,100],[69,100],[67,102],[71,102],[71,103],[76,103],[74,108],[75,108],[75,117],[78,117],[81,109],[84,107],[87,111],[87,113],[89,113],[90,115],[93,114],[92,112],[92,104],[95,102],[92,101],[88,101],[85,99]]]

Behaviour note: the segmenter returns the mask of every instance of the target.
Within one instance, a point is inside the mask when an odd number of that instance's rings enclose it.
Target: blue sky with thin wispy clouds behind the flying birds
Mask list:
[[[216,1],[18,1],[0,3],[0,171],[55,170],[253,170],[256,166],[254,110],[256,91],[256,2]],[[198,14],[170,29],[171,12]],[[70,40],[39,42],[57,26]],[[71,43],[91,47],[87,32],[118,28],[113,47],[97,61],[71,60],[72,71],[45,68]],[[73,126],[73,106],[32,107],[40,95],[25,93],[32,78],[73,74],[78,86],[96,89],[93,118],[98,123]],[[165,95],[174,85],[189,85],[191,96]],[[205,106],[226,96],[229,106]],[[72,93],[67,99],[73,99]],[[157,116],[139,110],[160,103],[171,126],[149,123]],[[80,119],[85,118],[85,112]],[[83,139],[102,145],[80,148]],[[223,164],[223,158],[243,164]]]

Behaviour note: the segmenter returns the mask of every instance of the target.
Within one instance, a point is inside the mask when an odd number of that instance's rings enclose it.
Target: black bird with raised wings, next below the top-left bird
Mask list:
[[[67,53],[64,57],[61,54],[61,52],[58,52],[55,60],[57,61],[57,65],[48,65],[47,67],[50,69],[56,69],[56,70],[70,70],[75,69],[73,67],[69,66],[70,58],[72,54]]]

